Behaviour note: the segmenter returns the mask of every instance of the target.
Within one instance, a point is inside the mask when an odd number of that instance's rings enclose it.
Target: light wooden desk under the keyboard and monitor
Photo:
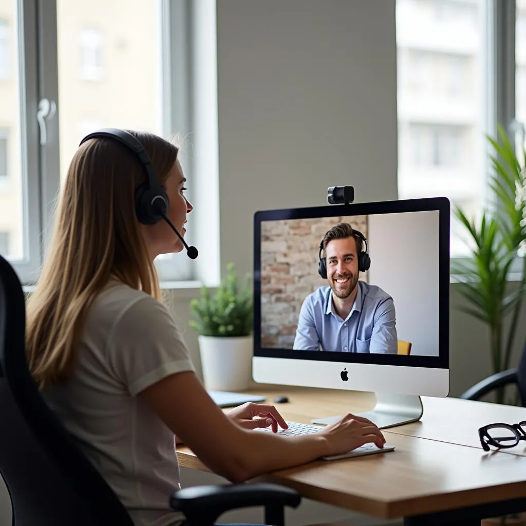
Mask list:
[[[289,403],[276,407],[285,419],[305,423],[374,405],[371,393],[284,386],[249,391],[266,396],[267,403],[277,395],[287,396]],[[423,403],[422,422],[383,431],[395,451],[319,460],[255,481],[275,482],[304,497],[379,518],[404,517],[411,526],[480,525],[483,517],[526,511],[526,455],[485,453],[477,434],[479,422],[514,423],[525,419],[524,409],[503,411],[502,406],[456,399],[423,398]],[[181,466],[208,471],[188,448],[178,448],[177,454]]]

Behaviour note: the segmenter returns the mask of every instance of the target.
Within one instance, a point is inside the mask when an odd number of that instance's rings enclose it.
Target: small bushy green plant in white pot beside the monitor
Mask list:
[[[233,263],[212,294],[201,288],[190,301],[194,319],[189,325],[199,333],[199,352],[205,387],[217,391],[246,389],[252,379],[253,301],[250,275],[243,288]]]

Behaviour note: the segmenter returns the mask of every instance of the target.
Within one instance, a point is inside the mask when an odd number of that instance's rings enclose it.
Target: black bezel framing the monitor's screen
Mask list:
[[[382,355],[376,353],[350,353],[341,351],[315,352],[305,350],[267,348],[261,346],[261,222],[318,217],[362,216],[405,212],[439,212],[439,312],[438,356]],[[291,209],[259,210],[254,214],[254,356],[318,360],[340,363],[368,363],[449,369],[449,282],[450,282],[450,201],[446,197],[400,199],[327,205]]]

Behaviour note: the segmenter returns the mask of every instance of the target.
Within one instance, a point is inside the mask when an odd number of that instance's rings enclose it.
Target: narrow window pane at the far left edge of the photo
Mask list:
[[[24,256],[17,2],[0,0],[0,254]]]

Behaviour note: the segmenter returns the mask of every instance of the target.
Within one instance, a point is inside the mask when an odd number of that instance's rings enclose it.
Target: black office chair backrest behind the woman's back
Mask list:
[[[14,526],[133,526],[29,373],[25,298],[0,256],[0,473]],[[168,496],[167,496],[168,499]]]

